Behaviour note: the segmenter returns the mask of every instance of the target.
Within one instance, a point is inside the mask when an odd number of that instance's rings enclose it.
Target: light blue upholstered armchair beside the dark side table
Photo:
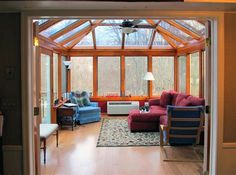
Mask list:
[[[98,107],[97,102],[89,102],[86,106],[80,106],[77,100],[74,99],[75,94],[70,94],[71,103],[78,105],[76,107],[76,121],[80,124],[86,124],[91,122],[97,122],[101,120],[101,109]]]

